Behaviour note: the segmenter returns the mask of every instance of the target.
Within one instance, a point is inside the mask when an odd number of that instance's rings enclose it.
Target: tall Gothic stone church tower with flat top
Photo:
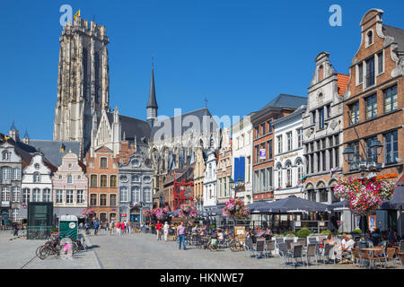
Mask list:
[[[90,148],[92,125],[110,111],[108,48],[105,26],[77,17],[59,38],[57,105],[53,139],[78,141],[82,154]]]

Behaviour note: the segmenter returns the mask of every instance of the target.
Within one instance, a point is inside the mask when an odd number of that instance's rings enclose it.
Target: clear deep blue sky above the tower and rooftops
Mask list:
[[[279,93],[307,96],[321,51],[347,74],[369,9],[404,29],[397,0],[2,0],[0,132],[14,120],[22,135],[52,138],[62,4],[107,26],[110,108],[144,119],[152,55],[160,115],[201,109],[207,98],[214,115],[244,116]],[[341,27],[329,25],[331,4],[342,8]]]

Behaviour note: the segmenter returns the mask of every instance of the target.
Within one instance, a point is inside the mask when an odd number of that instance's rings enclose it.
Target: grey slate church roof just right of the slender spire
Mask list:
[[[204,108],[204,109],[197,109],[190,111],[185,114],[181,114],[180,116],[176,117],[169,117],[169,118],[164,118],[162,120],[157,120],[154,122],[154,127],[152,128],[152,133],[151,133],[151,140],[152,141],[160,141],[162,140],[161,138],[154,138],[154,135],[161,129],[164,128],[165,125],[170,126],[171,125],[171,135],[165,135],[166,137],[176,137],[180,135],[184,135],[185,132],[189,129],[192,128],[192,126],[189,127],[189,124],[184,124],[182,125],[181,123],[181,128],[174,128],[174,123],[175,121],[181,117],[181,122],[184,120],[185,117],[189,117],[190,120],[192,120],[191,117],[197,117],[199,121],[199,131],[203,131],[203,123],[204,123],[204,116],[209,117],[210,120],[210,131],[214,132],[216,128],[218,128],[215,120],[213,119],[212,115],[210,114],[209,110]],[[194,128],[194,131],[196,131],[196,128]],[[162,132],[159,132],[159,135]]]

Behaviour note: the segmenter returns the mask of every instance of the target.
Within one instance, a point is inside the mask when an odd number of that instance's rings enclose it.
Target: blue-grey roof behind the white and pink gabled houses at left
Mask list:
[[[60,152],[62,144],[65,146],[64,152]],[[62,164],[62,158],[69,151],[74,152],[80,158],[80,142],[30,140],[30,145],[33,146],[37,152],[43,153],[45,158],[55,167]]]

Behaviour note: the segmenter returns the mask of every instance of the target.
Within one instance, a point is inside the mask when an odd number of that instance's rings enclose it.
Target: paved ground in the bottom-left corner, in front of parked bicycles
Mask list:
[[[12,239],[12,240],[10,240]],[[96,269],[100,268],[94,252],[79,252],[72,259],[55,256],[40,260],[35,250],[45,240],[14,238],[11,231],[0,232],[0,269]],[[88,243],[88,242],[87,242]]]

